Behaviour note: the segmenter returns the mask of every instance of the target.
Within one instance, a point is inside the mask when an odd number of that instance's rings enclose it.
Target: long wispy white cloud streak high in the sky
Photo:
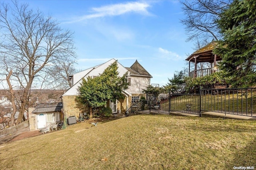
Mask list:
[[[138,13],[141,15],[151,15],[147,10],[148,7],[150,7],[150,5],[146,2],[128,2],[126,4],[121,3],[107,5],[99,8],[92,8],[92,14],[73,18],[71,21],[68,21],[66,23],[80,22],[83,20],[100,18],[105,16],[119,16],[130,12]]]

